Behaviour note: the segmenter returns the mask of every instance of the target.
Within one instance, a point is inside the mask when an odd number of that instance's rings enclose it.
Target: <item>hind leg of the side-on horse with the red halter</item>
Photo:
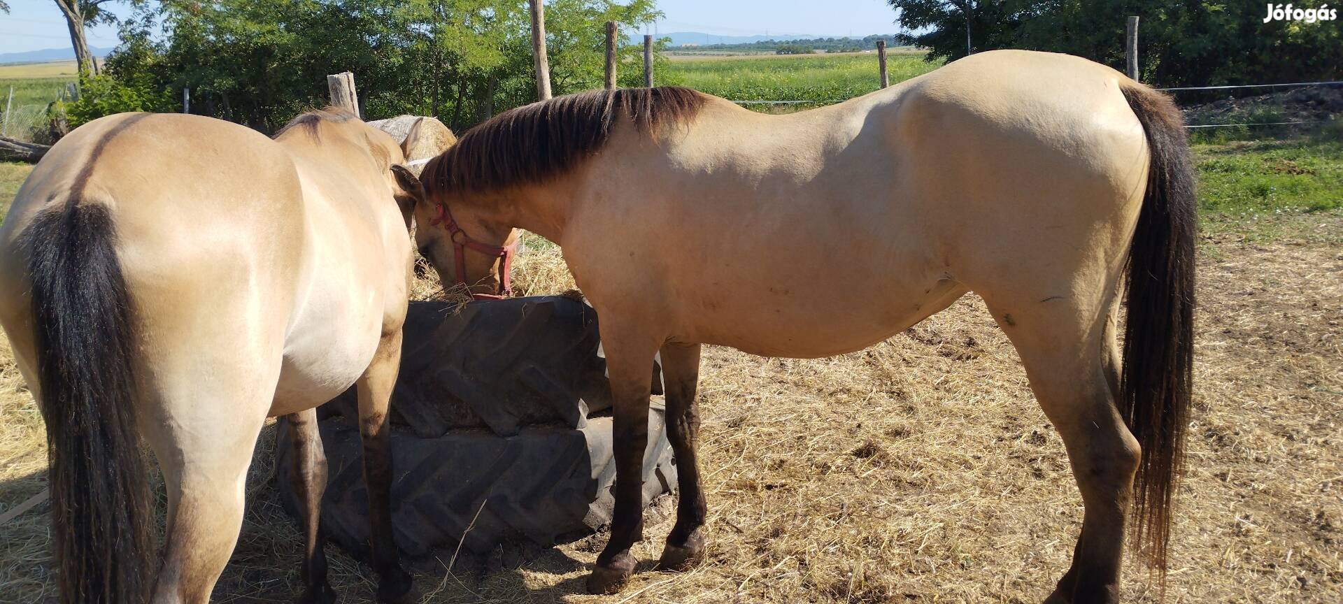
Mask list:
[[[1072,568],[1048,603],[1117,603],[1124,523],[1140,451],[1116,407],[1115,309],[1100,293],[1089,301],[984,298],[1064,440],[1085,506]]]

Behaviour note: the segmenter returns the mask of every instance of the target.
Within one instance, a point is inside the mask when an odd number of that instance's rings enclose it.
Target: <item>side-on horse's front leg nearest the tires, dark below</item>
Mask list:
[[[602,317],[602,346],[606,349],[615,405],[615,514],[611,540],[598,556],[587,588],[591,593],[615,593],[634,574],[635,560],[630,546],[643,540],[643,452],[649,443],[649,395],[653,385],[649,368],[661,342],[619,329],[614,317],[611,321],[606,319],[607,315]]]

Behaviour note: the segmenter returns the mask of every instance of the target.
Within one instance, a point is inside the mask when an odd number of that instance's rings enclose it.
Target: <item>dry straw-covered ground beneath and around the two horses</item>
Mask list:
[[[1322,238],[1202,246],[1197,411],[1179,495],[1167,601],[1343,600],[1343,216],[1307,216]],[[1323,243],[1322,243],[1323,242]],[[572,287],[532,240],[521,293]],[[423,285],[420,295],[438,293]],[[643,572],[620,596],[584,596],[596,536],[418,568],[442,603],[885,603],[1042,600],[1081,521],[1057,432],[1015,353],[967,297],[869,350],[794,361],[705,352],[708,562]],[[0,349],[0,506],[43,486],[43,436]],[[216,601],[289,601],[299,534],[258,444],[243,536]],[[666,502],[661,503],[663,507]],[[0,526],[0,601],[51,597],[46,506]],[[635,548],[655,560],[670,521]],[[334,552],[333,552],[334,553]],[[367,568],[332,556],[342,601],[368,601]],[[1156,601],[1136,561],[1125,601]]]

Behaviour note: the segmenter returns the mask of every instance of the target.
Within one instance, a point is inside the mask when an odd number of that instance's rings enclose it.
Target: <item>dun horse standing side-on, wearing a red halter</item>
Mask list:
[[[618,591],[635,566],[655,353],[680,476],[661,565],[685,568],[705,546],[701,344],[847,353],[968,291],[1017,348],[1085,503],[1048,601],[1117,600],[1131,505],[1135,541],[1163,568],[1191,385],[1195,209],[1180,115],[1159,93],[1022,51],[791,115],[676,87],[586,93],[478,126],[422,181],[420,224],[454,227],[416,234],[446,285],[496,287],[493,250],[525,228],[563,247],[602,317],[618,479],[590,591]]]

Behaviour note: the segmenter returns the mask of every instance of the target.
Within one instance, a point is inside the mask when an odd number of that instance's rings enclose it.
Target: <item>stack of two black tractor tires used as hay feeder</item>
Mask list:
[[[393,391],[392,523],[412,558],[435,548],[485,553],[506,541],[551,546],[610,522],[615,482],[611,407],[596,313],[564,297],[453,305],[412,302]],[[653,388],[661,393],[661,373]],[[329,464],[321,525],[367,556],[368,499],[355,389],[318,408]],[[287,424],[277,482],[290,514]],[[654,401],[645,506],[676,486],[663,412]]]

